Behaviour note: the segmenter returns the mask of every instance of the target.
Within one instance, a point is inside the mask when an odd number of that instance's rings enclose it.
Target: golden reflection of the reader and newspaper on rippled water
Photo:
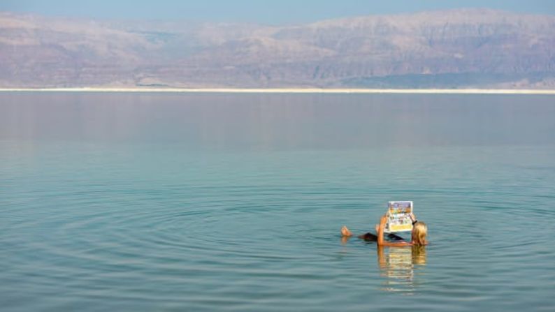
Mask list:
[[[382,290],[412,295],[419,284],[419,279],[425,274],[426,247],[377,246],[377,262],[380,265],[380,275],[385,278]]]

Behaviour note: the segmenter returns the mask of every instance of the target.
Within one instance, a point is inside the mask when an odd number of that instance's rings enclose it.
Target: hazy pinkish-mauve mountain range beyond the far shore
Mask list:
[[[461,9],[271,27],[0,13],[0,87],[555,89],[555,16]]]

